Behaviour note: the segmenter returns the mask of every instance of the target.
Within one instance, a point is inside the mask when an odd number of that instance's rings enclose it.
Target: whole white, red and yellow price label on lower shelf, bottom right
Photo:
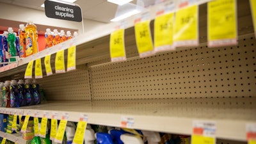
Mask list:
[[[191,144],[215,144],[216,123],[205,121],[193,122],[193,134]]]

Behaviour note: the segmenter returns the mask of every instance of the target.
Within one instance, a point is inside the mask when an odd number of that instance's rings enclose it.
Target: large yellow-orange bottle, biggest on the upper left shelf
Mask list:
[[[26,56],[38,52],[38,35],[36,25],[31,20],[28,21],[25,27],[26,33]]]

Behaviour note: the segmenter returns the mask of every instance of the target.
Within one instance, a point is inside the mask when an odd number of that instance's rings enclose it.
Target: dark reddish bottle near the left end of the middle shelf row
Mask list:
[[[3,107],[10,108],[10,81],[4,82],[3,87]]]

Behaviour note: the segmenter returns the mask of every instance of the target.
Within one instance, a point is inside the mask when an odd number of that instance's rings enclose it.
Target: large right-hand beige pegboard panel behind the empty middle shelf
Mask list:
[[[255,97],[255,37],[90,67],[94,100]]]

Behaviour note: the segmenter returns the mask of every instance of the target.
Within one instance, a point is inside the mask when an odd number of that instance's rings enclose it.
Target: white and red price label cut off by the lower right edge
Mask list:
[[[246,124],[246,140],[248,144],[256,144],[256,124]]]

